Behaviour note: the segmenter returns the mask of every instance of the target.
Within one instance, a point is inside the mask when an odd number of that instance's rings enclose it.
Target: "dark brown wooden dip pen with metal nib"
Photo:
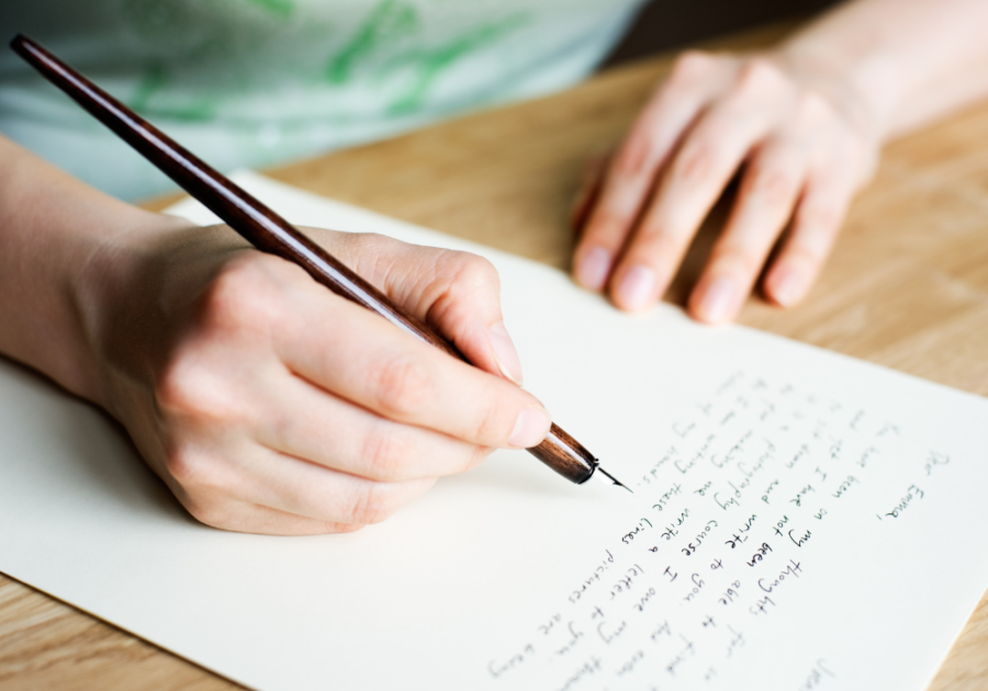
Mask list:
[[[42,76],[65,91],[254,247],[299,264],[313,279],[337,295],[378,313],[403,331],[467,362],[463,354],[446,339],[415,316],[392,304],[374,286],[310,240],[284,218],[172,141],[157,127],[56,58],[35,41],[18,35],[10,45]],[[602,468],[592,453],[555,423],[552,424],[549,435],[538,446],[528,451],[576,484],[585,483],[596,473],[600,473],[614,485],[631,491]]]

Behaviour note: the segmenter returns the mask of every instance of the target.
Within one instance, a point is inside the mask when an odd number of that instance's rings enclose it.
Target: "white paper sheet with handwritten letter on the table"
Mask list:
[[[239,180],[299,224],[489,257],[529,388],[635,496],[498,452],[355,534],[224,533],[0,362],[0,569],[265,690],[927,686],[988,585],[985,399]]]

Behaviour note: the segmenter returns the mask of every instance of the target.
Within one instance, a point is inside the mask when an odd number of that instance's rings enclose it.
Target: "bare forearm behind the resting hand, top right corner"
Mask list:
[[[988,95],[988,2],[855,0],[781,48],[798,70],[853,91],[884,140]]]

